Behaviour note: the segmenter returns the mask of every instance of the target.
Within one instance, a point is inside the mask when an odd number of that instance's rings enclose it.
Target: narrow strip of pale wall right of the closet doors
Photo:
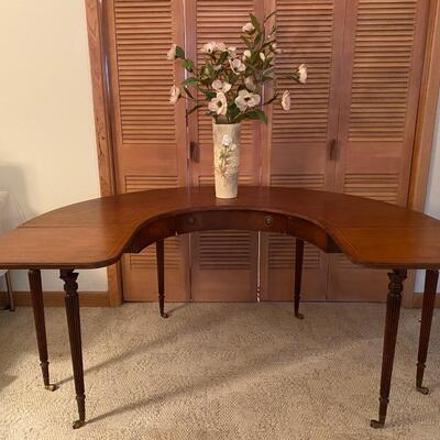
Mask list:
[[[433,135],[431,165],[429,169],[428,196],[425,212],[440,219],[440,97],[437,106],[436,132]],[[417,276],[415,292],[424,292],[425,273]],[[440,284],[440,283],[439,283]],[[438,288],[440,293],[440,286]]]

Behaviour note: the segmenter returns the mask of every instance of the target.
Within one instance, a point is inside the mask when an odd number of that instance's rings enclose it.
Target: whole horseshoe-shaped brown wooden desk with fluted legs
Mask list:
[[[81,334],[76,268],[96,268],[123,253],[156,243],[160,311],[164,310],[164,239],[205,230],[279,232],[297,238],[295,314],[299,309],[304,241],[353,263],[389,268],[380,392],[383,427],[388,406],[403,283],[408,268],[426,268],[417,389],[422,377],[440,267],[440,221],[400,207],[341,194],[242,187],[237,199],[216,199],[212,188],[176,188],[103,197],[37,217],[0,238],[0,268],[28,268],[44,384],[50,384],[40,271],[57,268],[64,280],[79,419],[85,424]]]

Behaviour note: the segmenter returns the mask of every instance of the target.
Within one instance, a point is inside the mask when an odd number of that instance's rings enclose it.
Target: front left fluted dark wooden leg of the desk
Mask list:
[[[84,367],[82,367],[82,348],[81,348],[81,328],[79,320],[79,298],[78,284],[76,279],[78,274],[74,271],[61,271],[61,278],[64,280],[64,292],[67,327],[70,342],[72,364],[74,367],[76,402],[78,405],[79,419],[74,421],[74,429],[80,428],[86,424],[86,395],[84,394]]]

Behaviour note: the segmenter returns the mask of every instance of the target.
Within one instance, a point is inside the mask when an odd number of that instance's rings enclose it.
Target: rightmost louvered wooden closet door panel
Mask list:
[[[336,189],[405,206],[426,33],[426,0],[348,8]],[[331,256],[329,299],[384,299],[384,273]]]

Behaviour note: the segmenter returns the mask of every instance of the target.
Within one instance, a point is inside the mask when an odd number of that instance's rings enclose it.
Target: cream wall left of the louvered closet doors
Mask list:
[[[0,189],[26,218],[98,197],[84,1],[0,1]],[[86,272],[80,289],[107,289],[105,271]],[[25,274],[14,287],[28,289]]]

